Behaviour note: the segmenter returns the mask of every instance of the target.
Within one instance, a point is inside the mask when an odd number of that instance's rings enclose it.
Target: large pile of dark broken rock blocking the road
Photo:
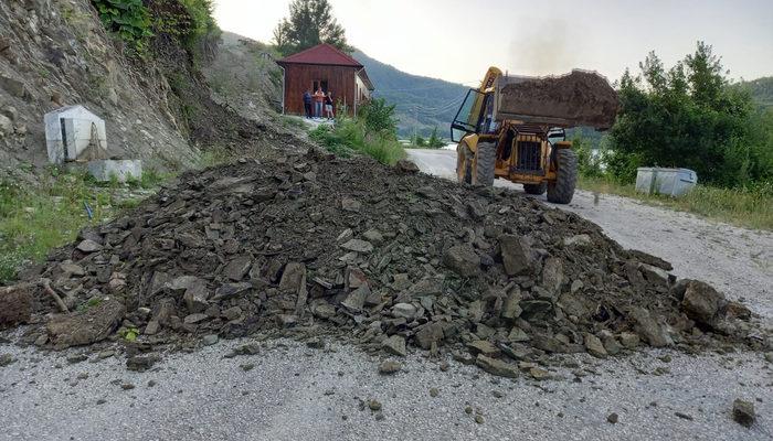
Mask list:
[[[25,271],[0,325],[31,314],[24,341],[53,348],[327,334],[504,376],[546,353],[769,345],[742,304],[595,224],[412,165],[311,152],[187,173]]]

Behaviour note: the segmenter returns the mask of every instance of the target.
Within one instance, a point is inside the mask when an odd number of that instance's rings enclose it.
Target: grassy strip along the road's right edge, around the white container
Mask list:
[[[697,185],[685,196],[670,197],[637,193],[633,184],[584,176],[579,179],[578,187],[626,196],[741,227],[773,230],[773,194],[763,187],[735,190]]]

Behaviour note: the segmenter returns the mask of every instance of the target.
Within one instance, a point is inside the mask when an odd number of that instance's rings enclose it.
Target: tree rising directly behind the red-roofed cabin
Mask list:
[[[284,18],[274,29],[274,43],[285,55],[314,47],[320,43],[332,44],[346,51],[346,32],[332,17],[328,0],[293,0],[289,18]]]

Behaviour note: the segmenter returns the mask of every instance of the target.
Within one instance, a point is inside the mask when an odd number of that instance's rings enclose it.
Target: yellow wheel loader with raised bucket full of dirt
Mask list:
[[[572,71],[559,77],[509,77],[490,67],[480,87],[469,89],[451,126],[460,183],[494,184],[505,179],[529,194],[569,204],[578,180],[578,158],[564,129],[605,130],[614,122],[617,94],[599,74]]]

